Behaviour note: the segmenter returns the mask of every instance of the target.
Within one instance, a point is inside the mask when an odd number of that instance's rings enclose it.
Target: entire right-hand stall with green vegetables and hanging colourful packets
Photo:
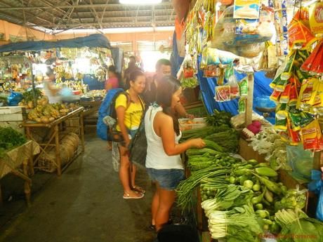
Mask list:
[[[209,116],[181,123],[206,147],[184,156],[178,206],[202,241],[322,241],[322,3],[194,4],[178,77]]]

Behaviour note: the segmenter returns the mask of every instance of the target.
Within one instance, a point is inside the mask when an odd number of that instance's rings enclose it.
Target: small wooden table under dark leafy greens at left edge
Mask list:
[[[0,159],[0,179],[8,173],[13,173],[25,180],[25,196],[28,206],[30,205],[30,184],[32,184],[28,171],[33,173],[33,157],[34,155],[39,154],[39,152],[40,147],[37,142],[29,140],[20,147],[6,152],[4,157]],[[22,171],[19,169],[20,166],[22,166]],[[1,185],[0,203],[2,203]]]

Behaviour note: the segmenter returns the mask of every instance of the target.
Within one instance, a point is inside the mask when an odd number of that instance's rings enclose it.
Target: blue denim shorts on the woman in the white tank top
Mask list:
[[[150,179],[158,182],[162,189],[174,190],[180,181],[185,179],[185,173],[182,169],[146,169]]]

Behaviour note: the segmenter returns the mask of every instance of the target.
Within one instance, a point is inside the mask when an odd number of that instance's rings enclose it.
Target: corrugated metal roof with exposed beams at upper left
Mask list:
[[[0,19],[47,29],[173,26],[171,0],[123,5],[119,0],[0,0]]]

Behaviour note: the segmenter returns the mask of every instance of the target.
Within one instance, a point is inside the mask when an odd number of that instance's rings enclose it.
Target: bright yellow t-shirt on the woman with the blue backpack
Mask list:
[[[121,94],[116,99],[115,108],[117,107],[127,107],[127,98],[126,95]],[[130,102],[128,109],[126,108],[126,113],[124,114],[124,124],[126,128],[133,129],[138,128],[140,125],[141,116],[143,115],[143,107],[139,103]],[[120,131],[119,125],[117,125],[117,130]]]

